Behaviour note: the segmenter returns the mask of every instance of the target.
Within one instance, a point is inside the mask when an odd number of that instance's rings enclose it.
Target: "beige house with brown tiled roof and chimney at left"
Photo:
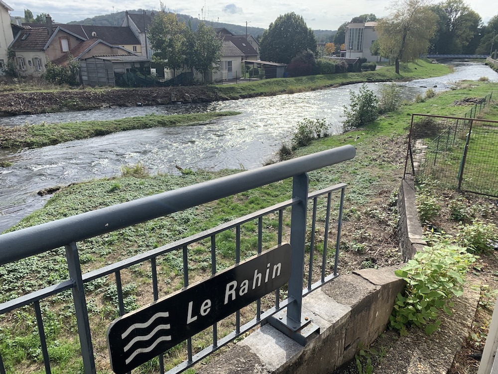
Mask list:
[[[80,28],[76,27],[77,25],[73,26],[75,27],[52,24],[52,18],[49,15],[47,15],[46,24],[42,27],[23,26],[10,44],[10,48],[15,53],[14,58],[19,75],[40,77],[45,72],[48,62],[64,65],[71,59],[82,60],[95,55],[136,56],[120,45],[113,45],[98,38],[96,26],[87,30],[89,32],[81,26],[78,26]]]

